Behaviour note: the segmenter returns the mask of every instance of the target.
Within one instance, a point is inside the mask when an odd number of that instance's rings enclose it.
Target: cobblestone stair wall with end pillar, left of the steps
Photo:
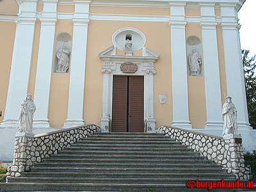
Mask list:
[[[20,173],[29,171],[34,163],[42,162],[51,154],[57,154],[59,150],[88,137],[93,132],[100,132],[100,127],[84,125],[36,136],[26,133],[16,134],[13,163],[12,166],[8,166],[6,175],[19,177]]]

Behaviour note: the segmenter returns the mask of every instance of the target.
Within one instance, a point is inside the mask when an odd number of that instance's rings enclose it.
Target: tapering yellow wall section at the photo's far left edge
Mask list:
[[[0,21],[0,123],[3,122],[6,97],[8,93],[8,84],[10,79],[10,70],[12,66],[12,52],[15,39],[15,22]]]

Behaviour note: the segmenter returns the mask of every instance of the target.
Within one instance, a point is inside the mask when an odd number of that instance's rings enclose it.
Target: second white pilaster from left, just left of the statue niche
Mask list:
[[[48,111],[58,0],[43,0],[43,2],[44,10],[40,18],[41,33],[34,95],[34,102],[36,103],[34,127],[50,127]]]

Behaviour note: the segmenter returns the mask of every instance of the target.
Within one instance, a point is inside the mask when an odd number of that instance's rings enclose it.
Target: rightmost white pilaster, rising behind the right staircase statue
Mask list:
[[[232,97],[237,109],[238,131],[248,130],[252,127],[248,121],[236,4],[220,4],[220,6],[227,95]]]

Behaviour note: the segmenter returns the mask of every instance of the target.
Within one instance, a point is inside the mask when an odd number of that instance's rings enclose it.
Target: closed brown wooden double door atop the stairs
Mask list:
[[[144,132],[144,77],[113,76],[112,132]]]

